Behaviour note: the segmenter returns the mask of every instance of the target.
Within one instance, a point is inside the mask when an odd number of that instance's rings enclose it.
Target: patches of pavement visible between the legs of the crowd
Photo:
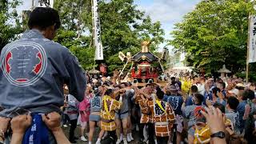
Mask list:
[[[70,130],[70,127],[67,127],[67,128],[63,128],[65,134],[66,134],[66,137],[69,138],[69,130]],[[79,137],[79,126],[76,128],[75,130],[75,136],[76,137]],[[98,138],[98,133],[99,133],[99,129],[97,128],[96,129],[96,132],[94,133],[94,141],[92,142],[93,144],[95,144],[95,142],[97,141],[97,138]],[[134,141],[133,142],[128,142],[129,144],[137,144],[138,143],[138,132],[136,132],[135,134],[133,134],[133,137],[134,137]],[[87,138],[87,137],[86,137]],[[88,139],[88,138],[87,138]],[[82,142],[80,140],[77,141],[78,144],[87,144],[88,142]]]

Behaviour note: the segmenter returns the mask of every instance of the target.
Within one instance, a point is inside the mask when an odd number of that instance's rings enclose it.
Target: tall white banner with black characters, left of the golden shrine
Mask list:
[[[103,47],[101,39],[101,24],[98,17],[98,2],[93,0],[93,20],[94,20],[94,46],[95,50],[95,60],[103,60]]]

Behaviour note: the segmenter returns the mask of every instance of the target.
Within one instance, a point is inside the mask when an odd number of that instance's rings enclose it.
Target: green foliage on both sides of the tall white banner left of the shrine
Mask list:
[[[62,32],[58,32],[56,42],[68,48],[73,46],[70,50],[75,51],[85,69],[90,69],[94,64],[90,1],[56,0],[54,7],[62,19]],[[109,71],[121,69],[124,65],[118,58],[119,51],[136,54],[141,50],[143,40],[150,40],[151,50],[157,50],[158,45],[164,42],[160,22],[151,22],[150,17],[145,17],[144,12],[134,5],[134,0],[102,0],[98,2],[98,12],[104,58]],[[86,53],[86,50],[89,52]]]

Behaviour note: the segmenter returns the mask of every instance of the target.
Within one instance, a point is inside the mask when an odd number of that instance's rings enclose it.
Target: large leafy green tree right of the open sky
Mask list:
[[[252,10],[251,3],[244,0],[202,1],[175,24],[170,45],[186,52],[190,66],[203,68],[208,74],[223,64],[234,72],[244,70]]]

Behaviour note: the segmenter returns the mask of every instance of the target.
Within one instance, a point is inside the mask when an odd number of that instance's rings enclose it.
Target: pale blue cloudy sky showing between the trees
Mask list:
[[[22,0],[22,6],[18,6],[18,11],[29,10],[31,0]],[[165,30],[165,38],[171,39],[170,31],[174,29],[174,24],[182,21],[182,17],[194,10],[194,7],[201,0],[134,0],[139,10],[150,15],[153,22],[161,22]],[[163,43],[160,48],[165,46]],[[171,49],[171,46],[168,46]],[[161,50],[161,49],[160,49]]]

